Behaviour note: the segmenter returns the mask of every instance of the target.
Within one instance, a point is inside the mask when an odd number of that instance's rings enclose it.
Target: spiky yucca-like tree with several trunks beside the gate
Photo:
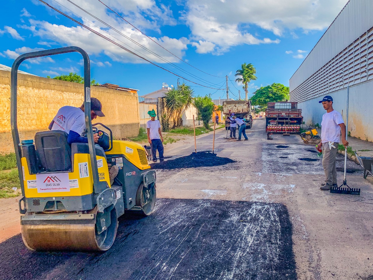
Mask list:
[[[164,96],[164,105],[167,109],[167,119],[172,119],[172,128],[181,125],[181,117],[186,109],[193,103],[193,90],[189,85],[182,83],[178,88],[171,88]]]

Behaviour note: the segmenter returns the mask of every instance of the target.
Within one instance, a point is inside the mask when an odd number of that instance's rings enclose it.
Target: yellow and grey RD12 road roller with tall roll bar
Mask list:
[[[64,131],[43,131],[19,140],[17,73],[23,60],[79,52],[84,59],[84,114],[87,143],[68,144]],[[156,203],[156,174],[144,148],[113,140],[112,131],[91,122],[90,60],[79,47],[25,53],[12,66],[11,127],[22,199],[22,239],[37,251],[106,251],[114,243],[118,217],[150,215]],[[63,120],[62,120],[63,121]],[[110,132],[98,130],[101,125]],[[93,134],[100,137],[98,144]],[[109,169],[119,173],[110,185]]]

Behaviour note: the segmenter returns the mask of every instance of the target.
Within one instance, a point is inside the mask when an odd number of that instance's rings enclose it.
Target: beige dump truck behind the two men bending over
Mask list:
[[[250,100],[223,101],[223,114],[228,116],[234,113],[237,118],[246,119],[246,128],[253,127],[253,107]],[[230,122],[225,120],[225,129],[230,129]]]

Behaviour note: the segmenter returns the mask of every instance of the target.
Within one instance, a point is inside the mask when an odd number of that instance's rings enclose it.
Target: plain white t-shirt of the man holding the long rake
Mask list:
[[[339,124],[343,124],[342,115],[333,110],[330,113],[323,115],[323,121],[321,122],[321,139],[322,143],[341,141],[341,127]]]

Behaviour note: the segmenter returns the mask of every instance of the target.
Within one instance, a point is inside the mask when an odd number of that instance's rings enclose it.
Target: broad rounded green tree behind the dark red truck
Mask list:
[[[267,108],[268,102],[278,102],[289,98],[289,87],[283,84],[273,83],[266,87],[261,87],[254,92],[251,97],[251,104]]]

